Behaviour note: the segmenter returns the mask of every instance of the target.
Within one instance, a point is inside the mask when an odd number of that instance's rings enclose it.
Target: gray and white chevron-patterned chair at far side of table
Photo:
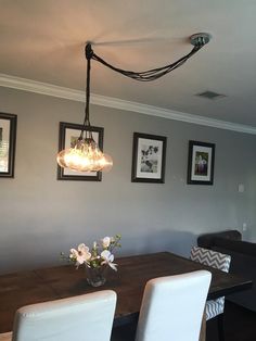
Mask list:
[[[229,271],[231,256],[217,251],[193,247],[191,249],[190,258],[194,262],[215,267],[225,273]],[[218,318],[218,334],[219,341],[225,340],[223,331],[223,311],[225,311],[225,296],[206,302],[205,313],[206,320],[217,316]]]

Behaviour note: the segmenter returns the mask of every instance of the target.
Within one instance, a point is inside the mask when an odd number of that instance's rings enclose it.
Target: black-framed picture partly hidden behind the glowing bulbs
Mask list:
[[[74,147],[80,136],[81,129],[82,125],[60,122],[59,151]],[[104,128],[91,126],[89,129],[87,128],[87,131],[89,130],[92,131],[92,137],[94,141],[102,150]],[[101,172],[75,172],[57,165],[57,180],[101,181]]]

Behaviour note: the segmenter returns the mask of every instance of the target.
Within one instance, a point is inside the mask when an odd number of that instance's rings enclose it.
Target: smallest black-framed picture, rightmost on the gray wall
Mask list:
[[[213,185],[214,161],[214,143],[189,141],[187,182],[191,185]]]

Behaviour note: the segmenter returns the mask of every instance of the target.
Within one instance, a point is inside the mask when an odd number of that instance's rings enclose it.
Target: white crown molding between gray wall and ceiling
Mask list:
[[[5,88],[13,88],[28,92],[35,92],[66,100],[85,102],[85,92],[71,88],[54,86],[47,83],[36,81],[31,79],[0,74],[0,86]],[[117,98],[105,97],[101,94],[91,93],[91,103],[106,108],[131,111],[140,114],[163,117],[167,119],[175,119],[208,126],[219,129],[233,130],[238,132],[245,132],[256,135],[256,128],[247,125],[235,124],[227,121],[219,121],[200,115],[192,115],[182,112],[162,109],[153,105],[146,105],[137,102],[120,100]]]

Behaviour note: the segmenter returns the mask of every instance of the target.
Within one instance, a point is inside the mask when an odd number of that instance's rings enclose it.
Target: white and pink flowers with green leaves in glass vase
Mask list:
[[[100,242],[94,241],[91,250],[85,243],[81,243],[77,249],[71,249],[68,260],[77,267],[85,264],[86,267],[93,269],[108,265],[112,269],[117,270],[113,250],[120,248],[119,241],[120,235],[104,237]]]

